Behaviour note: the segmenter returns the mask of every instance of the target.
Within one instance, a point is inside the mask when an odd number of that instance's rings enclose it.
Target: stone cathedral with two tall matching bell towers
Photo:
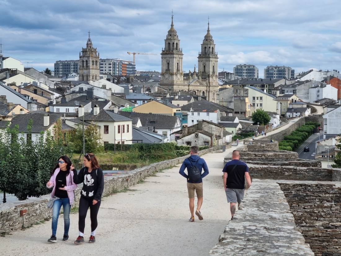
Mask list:
[[[172,24],[166,35],[165,47],[161,53],[160,86],[168,91],[192,91],[196,95],[205,96],[207,100],[216,102],[219,91],[218,84],[218,54],[215,51],[213,37],[208,22],[207,33],[201,44],[198,55],[198,71],[194,66],[193,73],[182,71],[183,53],[177,31]]]

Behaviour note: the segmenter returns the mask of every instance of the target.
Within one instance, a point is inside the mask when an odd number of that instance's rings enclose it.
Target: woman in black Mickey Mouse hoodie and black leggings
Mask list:
[[[76,184],[83,182],[83,188],[80,193],[79,210],[78,210],[78,230],[79,236],[75,240],[75,244],[84,243],[85,218],[90,208],[91,235],[89,243],[94,243],[97,229],[97,214],[101,205],[101,197],[104,188],[103,171],[100,168],[94,154],[85,154],[83,158],[84,168],[78,175],[74,175]]]

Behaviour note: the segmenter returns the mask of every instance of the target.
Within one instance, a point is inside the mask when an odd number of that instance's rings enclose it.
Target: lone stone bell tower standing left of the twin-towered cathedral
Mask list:
[[[86,48],[79,52],[79,81],[100,80],[100,53],[92,47],[90,31],[88,33]]]

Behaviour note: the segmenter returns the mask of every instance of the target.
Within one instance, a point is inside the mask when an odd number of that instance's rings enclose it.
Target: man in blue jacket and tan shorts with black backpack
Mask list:
[[[198,146],[191,146],[191,156],[186,158],[181,167],[179,173],[187,179],[187,190],[189,197],[189,207],[191,212],[190,222],[194,222],[194,191],[198,199],[197,208],[195,214],[199,220],[203,220],[204,217],[200,212],[203,204],[203,177],[208,175],[208,167],[205,160],[198,156]],[[187,174],[184,170],[187,168]],[[204,173],[202,173],[204,169]]]

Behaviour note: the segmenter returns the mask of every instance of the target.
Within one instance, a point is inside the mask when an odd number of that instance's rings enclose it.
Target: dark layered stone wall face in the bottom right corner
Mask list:
[[[341,183],[278,183],[315,256],[341,255]]]

